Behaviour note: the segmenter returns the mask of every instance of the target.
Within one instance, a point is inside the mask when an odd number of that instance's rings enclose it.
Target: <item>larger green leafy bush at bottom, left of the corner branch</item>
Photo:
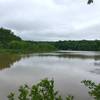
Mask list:
[[[58,94],[58,91],[54,91],[54,80],[44,79],[37,85],[33,85],[31,88],[24,85],[19,88],[18,100],[63,100]],[[73,100],[73,96],[67,96],[66,100]],[[15,93],[10,93],[8,100],[15,100]]]

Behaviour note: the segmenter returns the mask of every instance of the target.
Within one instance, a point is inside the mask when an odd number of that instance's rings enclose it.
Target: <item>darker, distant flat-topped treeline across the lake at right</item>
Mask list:
[[[100,40],[58,41],[54,45],[60,50],[100,51]]]

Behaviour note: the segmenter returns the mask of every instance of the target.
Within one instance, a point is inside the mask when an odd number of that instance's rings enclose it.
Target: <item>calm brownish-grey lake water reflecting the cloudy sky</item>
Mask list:
[[[22,84],[32,85],[40,79],[54,78],[55,89],[75,100],[92,100],[80,82],[100,82],[100,52],[60,51],[31,55],[0,55],[0,100]]]

